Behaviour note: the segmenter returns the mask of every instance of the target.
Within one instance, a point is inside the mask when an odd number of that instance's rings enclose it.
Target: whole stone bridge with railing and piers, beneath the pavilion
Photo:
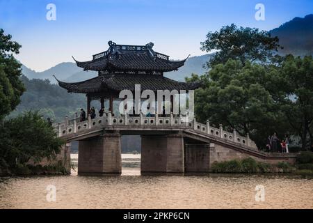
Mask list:
[[[141,171],[208,172],[213,162],[253,157],[271,164],[295,162],[292,153],[258,151],[249,136],[206,124],[183,121],[182,116],[107,116],[79,122],[65,118],[54,125],[58,137],[79,141],[79,174],[120,174],[120,137],[141,135]]]

